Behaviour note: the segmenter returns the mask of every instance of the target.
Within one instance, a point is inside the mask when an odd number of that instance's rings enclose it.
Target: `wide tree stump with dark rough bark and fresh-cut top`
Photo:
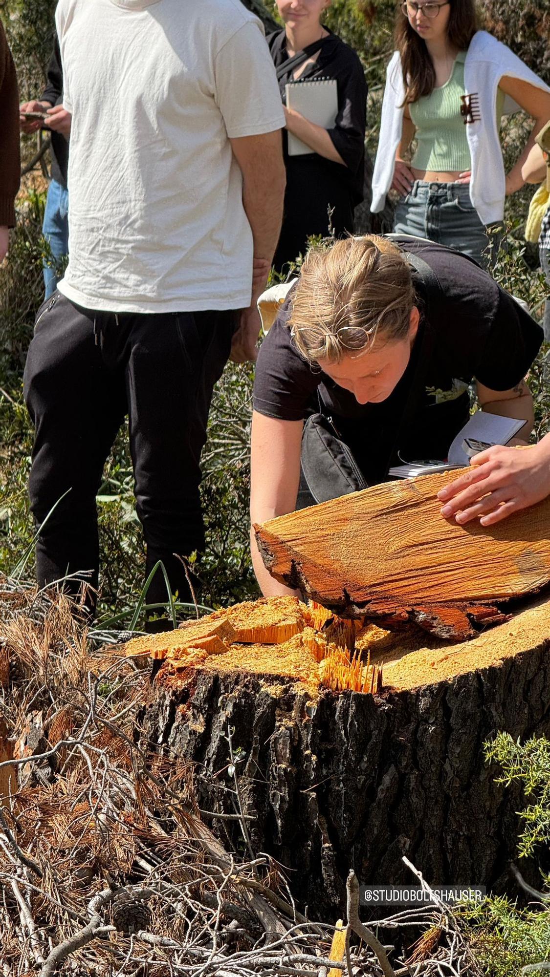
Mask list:
[[[258,605],[269,602],[236,614]],[[242,810],[252,851],[289,869],[312,917],[341,913],[349,868],[361,883],[413,881],[402,854],[431,883],[502,891],[524,801],[519,787],[495,784],[482,743],[500,730],[550,735],[550,603],[463,644],[367,625],[349,674],[368,649],[364,667],[383,669],[374,694],[323,686],[309,632],[322,644],[339,626],[306,621],[283,645],[212,654],[179,654],[185,630],[139,639],[134,653],[162,657],[162,638],[168,650],[141,710],[142,742],[197,765],[201,809],[233,819]],[[238,820],[210,821],[245,844]],[[536,870],[530,878],[538,883]]]

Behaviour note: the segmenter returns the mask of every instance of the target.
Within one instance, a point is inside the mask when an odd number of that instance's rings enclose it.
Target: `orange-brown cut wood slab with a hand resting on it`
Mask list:
[[[550,581],[550,498],[496,526],[458,526],[436,497],[455,478],[390,482],[254,526],[263,562],[341,616],[473,637]]]

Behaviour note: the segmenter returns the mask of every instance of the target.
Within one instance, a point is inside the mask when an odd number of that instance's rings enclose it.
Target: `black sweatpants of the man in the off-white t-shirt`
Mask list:
[[[212,388],[229,357],[235,312],[96,313],[60,292],[38,311],[24,368],[35,428],[29,495],[40,525],[40,585],[76,574],[97,587],[96,494],[127,414],[147,573],[162,560],[184,600],[181,563],[204,547],[199,461]],[[161,573],[148,603],[166,600]]]

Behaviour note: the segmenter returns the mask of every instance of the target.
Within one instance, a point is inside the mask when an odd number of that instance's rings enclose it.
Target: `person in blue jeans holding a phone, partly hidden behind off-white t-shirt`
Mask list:
[[[45,111],[47,118],[27,119],[24,112]],[[24,102],[20,106],[22,132],[35,132],[40,127],[52,134],[52,179],[46,198],[42,233],[50,246],[50,255],[44,259],[45,298],[49,298],[63,276],[63,265],[69,254],[69,193],[67,169],[69,165],[70,114],[63,107],[63,70],[57,36],[48,65],[48,80],[40,99]]]

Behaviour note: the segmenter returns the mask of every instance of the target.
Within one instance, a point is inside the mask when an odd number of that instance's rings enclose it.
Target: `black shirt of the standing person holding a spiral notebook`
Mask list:
[[[325,28],[328,29],[328,28]],[[276,68],[287,60],[286,34],[277,30],[267,37],[267,43]],[[279,90],[283,103],[286,102],[287,82],[293,81],[295,68],[279,79]],[[305,168],[309,178],[309,189],[319,192],[318,181],[344,184],[351,195],[353,205],[363,199],[365,170],[365,125],[367,110],[367,83],[361,62],[352,48],[344,44],[340,37],[329,32],[317,59],[308,64],[299,80],[306,78],[333,78],[338,84],[338,115],[334,127],[328,133],[342,158],[342,163],[332,162],[316,152],[303,156],[289,156],[287,133],[283,131],[285,162],[289,170],[288,179],[296,179]],[[312,169],[313,167],[313,169]],[[311,183],[312,181],[312,183]],[[316,186],[317,184],[317,186]]]

